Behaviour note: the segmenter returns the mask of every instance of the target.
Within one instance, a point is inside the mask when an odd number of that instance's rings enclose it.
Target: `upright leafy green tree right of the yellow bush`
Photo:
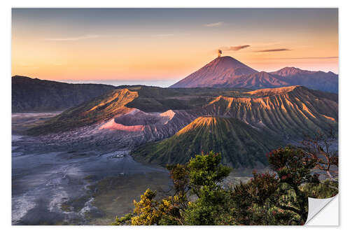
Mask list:
[[[196,155],[188,162],[188,168],[190,189],[198,199],[185,212],[186,224],[218,225],[230,220],[230,196],[221,188],[221,182],[231,169],[221,164],[221,154],[211,151]]]

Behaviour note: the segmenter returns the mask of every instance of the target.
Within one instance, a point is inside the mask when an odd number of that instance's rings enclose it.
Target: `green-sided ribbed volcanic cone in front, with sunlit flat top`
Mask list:
[[[241,120],[203,116],[169,139],[137,148],[132,156],[165,165],[185,163],[202,151],[214,150],[222,154],[224,164],[232,167],[262,167],[267,165],[265,154],[281,144]]]

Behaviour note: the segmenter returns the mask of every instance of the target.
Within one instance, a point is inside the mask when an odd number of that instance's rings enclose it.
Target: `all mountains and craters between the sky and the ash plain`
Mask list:
[[[218,57],[177,88],[13,76],[12,106],[14,113],[64,110],[29,126],[38,148],[131,150],[136,160],[161,165],[214,150],[232,167],[264,167],[273,148],[337,131],[337,83],[332,72],[258,72]]]

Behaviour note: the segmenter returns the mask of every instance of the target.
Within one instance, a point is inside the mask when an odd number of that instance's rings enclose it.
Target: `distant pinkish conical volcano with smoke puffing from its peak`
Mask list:
[[[256,72],[233,57],[217,57],[170,87],[223,87],[232,78]]]

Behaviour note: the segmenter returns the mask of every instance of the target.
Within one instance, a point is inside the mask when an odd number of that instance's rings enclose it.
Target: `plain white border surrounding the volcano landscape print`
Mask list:
[[[350,10],[348,8],[349,1],[304,1],[304,0],[293,0],[293,1],[220,1],[220,0],[202,0],[202,1],[164,1],[164,0],[147,0],[147,1],[44,1],[44,0],[18,0],[18,1],[2,1],[1,2],[1,230],[3,232],[62,232],[62,231],[76,231],[76,232],[97,232],[100,230],[111,231],[111,232],[177,232],[179,230],[186,232],[193,231],[226,231],[226,232],[251,232],[252,230],[259,230],[262,232],[281,231],[283,232],[295,232],[297,231],[310,231],[316,230],[318,232],[330,232],[334,230],[344,230],[346,225],[349,225],[349,218],[346,216],[346,207],[349,205],[349,198],[345,198],[349,191],[349,185],[342,185],[343,182],[349,182],[349,170],[347,167],[350,165],[349,157],[350,151],[348,145],[346,145],[347,136],[349,136],[350,127],[349,120],[346,118],[349,113],[349,102],[350,101],[350,66],[349,66],[349,22],[350,22]],[[13,227],[11,223],[11,199],[10,199],[10,185],[11,185],[11,166],[10,166],[10,8],[11,7],[230,7],[230,8],[244,8],[244,7],[279,7],[279,8],[290,8],[290,7],[339,7],[339,129],[340,129],[340,225],[341,227]],[[343,145],[344,143],[344,145]],[[343,195],[344,194],[344,195]],[[342,198],[344,197],[344,198]]]

